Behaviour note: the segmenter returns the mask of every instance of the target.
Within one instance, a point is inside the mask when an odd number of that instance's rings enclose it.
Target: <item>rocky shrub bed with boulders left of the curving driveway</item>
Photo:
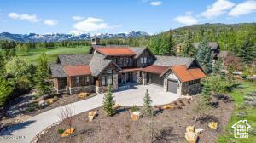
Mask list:
[[[59,95],[57,100],[52,104],[42,107],[38,105],[37,99],[32,100],[34,97],[33,93],[34,92],[31,92],[30,94],[20,96],[19,99],[17,99],[18,101],[15,103],[10,103],[12,106],[7,108],[5,111],[5,116],[3,116],[0,121],[0,132],[17,123],[22,123],[28,118],[33,117],[41,112],[46,112],[58,106],[64,106],[79,100],[85,100],[96,95],[96,93],[93,93],[88,97],[79,98],[78,94],[62,94]]]

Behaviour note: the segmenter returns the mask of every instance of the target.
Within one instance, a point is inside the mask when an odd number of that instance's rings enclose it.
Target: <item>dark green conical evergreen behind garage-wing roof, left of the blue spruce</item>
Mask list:
[[[181,51],[181,56],[183,56],[183,57],[195,57],[196,50],[195,50],[195,47],[192,43],[193,43],[192,33],[191,33],[191,31],[189,31],[188,36],[186,38],[186,41],[183,45],[183,49]]]

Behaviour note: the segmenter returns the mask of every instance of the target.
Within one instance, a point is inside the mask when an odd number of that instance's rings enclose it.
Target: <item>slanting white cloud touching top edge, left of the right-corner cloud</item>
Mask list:
[[[217,0],[215,3],[212,3],[211,6],[208,6],[207,10],[202,12],[200,16],[207,19],[215,18],[226,13],[228,9],[232,9],[234,6],[235,3],[228,0]]]

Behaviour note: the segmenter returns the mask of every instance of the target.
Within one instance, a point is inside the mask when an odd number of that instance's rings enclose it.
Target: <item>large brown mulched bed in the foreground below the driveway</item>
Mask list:
[[[198,98],[198,97],[196,97]],[[181,101],[180,101],[181,100]],[[60,123],[44,132],[38,142],[186,142],[184,139],[185,129],[194,125],[195,129],[205,129],[200,134],[200,141],[213,143],[218,139],[218,134],[224,131],[224,126],[229,122],[233,112],[233,102],[223,101],[223,98],[214,98],[218,106],[211,108],[209,117],[196,120],[193,108],[194,100],[179,99],[172,103],[175,109],[157,112],[154,117],[143,117],[138,121],[131,120],[129,107],[122,107],[113,117],[106,117],[102,108],[93,111],[98,113],[96,119],[88,122],[88,112],[80,113],[74,117],[74,134],[61,138],[58,129],[67,129],[67,125]],[[154,108],[156,110],[156,108]],[[212,130],[207,123],[218,121],[219,128]],[[150,125],[151,124],[151,125]],[[150,135],[153,134],[153,135]]]

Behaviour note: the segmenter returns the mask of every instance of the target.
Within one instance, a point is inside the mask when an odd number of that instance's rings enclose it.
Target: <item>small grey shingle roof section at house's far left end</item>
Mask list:
[[[61,64],[49,64],[52,77],[67,77],[66,72]]]

